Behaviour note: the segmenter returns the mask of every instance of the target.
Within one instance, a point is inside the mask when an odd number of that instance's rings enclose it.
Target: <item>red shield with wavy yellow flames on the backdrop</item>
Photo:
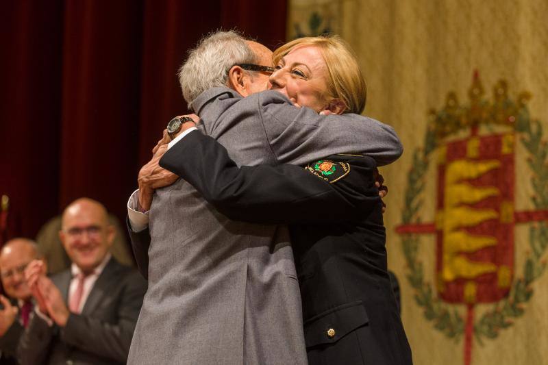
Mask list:
[[[440,297],[469,304],[505,297],[514,270],[514,134],[442,147],[436,214]]]

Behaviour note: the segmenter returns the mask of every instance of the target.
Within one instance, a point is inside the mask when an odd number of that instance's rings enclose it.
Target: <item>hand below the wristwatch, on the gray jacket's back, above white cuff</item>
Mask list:
[[[167,144],[158,143],[158,149],[156,149],[156,152],[152,156],[152,160],[145,166],[142,166],[137,179],[139,184],[139,205],[143,211],[150,209],[155,189],[169,186],[179,178],[174,173],[171,173],[171,171],[160,167],[160,158],[166,153]]]

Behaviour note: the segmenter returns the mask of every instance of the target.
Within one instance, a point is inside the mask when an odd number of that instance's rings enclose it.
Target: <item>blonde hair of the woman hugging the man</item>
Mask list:
[[[272,60],[278,64],[286,54],[297,47],[318,47],[327,66],[327,96],[341,99],[347,105],[345,112],[360,114],[365,108],[367,87],[358,60],[347,42],[339,36],[297,38],[274,51]]]

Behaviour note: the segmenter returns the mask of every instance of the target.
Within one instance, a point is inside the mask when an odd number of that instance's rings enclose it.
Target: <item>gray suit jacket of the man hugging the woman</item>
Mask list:
[[[392,128],[352,114],[319,116],[274,91],[242,98],[213,88],[192,107],[201,131],[240,165],[349,152],[387,164],[401,155]],[[129,364],[306,364],[285,226],[231,221],[181,179],[156,190],[149,217],[150,245],[132,235],[134,249],[148,247],[149,290]]]

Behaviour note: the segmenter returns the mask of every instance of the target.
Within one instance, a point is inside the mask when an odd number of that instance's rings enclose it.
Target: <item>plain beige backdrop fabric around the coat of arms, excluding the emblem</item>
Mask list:
[[[450,91],[462,104],[469,102],[468,90],[478,71],[486,97],[492,99],[499,79],[508,81],[508,93],[515,98],[529,91],[532,118],[538,119],[548,139],[548,1],[432,1],[432,0],[292,0],[288,29],[308,21],[317,12],[331,29],[343,36],[358,54],[368,84],[365,114],[395,127],[406,149],[395,164],[382,168],[390,194],[384,216],[387,228],[388,264],[399,277],[402,318],[413,349],[415,364],[464,364],[463,338],[455,341],[434,329],[414,301],[406,279],[406,262],[401,238],[395,227],[401,224],[403,191],[407,187],[412,152],[423,147],[427,112],[445,105]],[[310,29],[308,30],[310,32]],[[289,32],[290,37],[294,32]],[[548,148],[548,147],[547,147]],[[436,161],[429,164],[420,216],[434,221],[436,206]],[[527,151],[516,140],[516,211],[534,210]],[[516,226],[514,278],[523,276],[529,228]],[[421,236],[419,257],[425,281],[435,283],[436,240]],[[548,249],[544,258],[548,257]],[[524,314],[483,345],[473,341],[471,364],[548,364],[548,273],[532,284],[534,294],[523,306]],[[463,318],[464,305],[451,306]],[[480,318],[493,305],[476,305]]]

